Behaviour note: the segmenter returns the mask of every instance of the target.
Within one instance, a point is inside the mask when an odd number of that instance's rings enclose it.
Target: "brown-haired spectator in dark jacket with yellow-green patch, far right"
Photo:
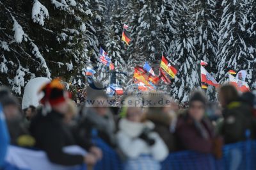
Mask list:
[[[236,143],[247,138],[254,139],[255,118],[250,105],[241,101],[236,88],[232,85],[221,86],[219,100],[223,107],[223,122],[220,125],[220,134],[225,143]]]

